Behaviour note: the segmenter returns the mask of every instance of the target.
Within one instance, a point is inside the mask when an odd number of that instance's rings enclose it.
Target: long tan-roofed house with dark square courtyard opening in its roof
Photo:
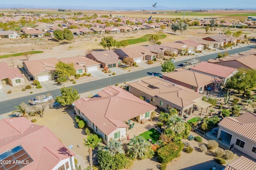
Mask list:
[[[202,94],[158,77],[130,83],[129,92],[134,96],[144,97],[144,100],[164,109],[165,112],[175,108],[180,116],[191,114],[194,105],[204,103]]]

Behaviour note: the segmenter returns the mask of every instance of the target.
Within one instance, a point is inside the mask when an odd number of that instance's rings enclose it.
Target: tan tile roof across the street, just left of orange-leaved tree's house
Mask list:
[[[100,61],[101,63],[105,63],[105,64],[122,61],[118,59],[118,55],[112,50],[97,51],[97,52],[92,52],[90,54],[93,55],[97,61]],[[86,57],[89,58],[90,55],[86,55]]]

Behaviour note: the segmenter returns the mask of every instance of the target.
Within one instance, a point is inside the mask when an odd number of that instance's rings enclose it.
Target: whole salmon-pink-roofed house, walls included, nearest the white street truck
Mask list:
[[[190,67],[189,70],[215,78],[221,78],[224,81],[223,84],[226,84],[226,81],[238,72],[236,68],[208,63],[206,61],[202,61],[196,66]]]

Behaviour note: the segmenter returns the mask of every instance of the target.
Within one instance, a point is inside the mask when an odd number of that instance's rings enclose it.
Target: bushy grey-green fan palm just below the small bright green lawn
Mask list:
[[[141,136],[135,136],[127,144],[127,154],[132,159],[143,159],[150,152],[151,144]]]

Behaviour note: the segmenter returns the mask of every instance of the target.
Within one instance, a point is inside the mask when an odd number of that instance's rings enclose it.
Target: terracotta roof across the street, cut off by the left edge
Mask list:
[[[7,63],[0,63],[0,80],[9,78],[10,80],[16,77],[24,77],[17,67],[9,68]]]

